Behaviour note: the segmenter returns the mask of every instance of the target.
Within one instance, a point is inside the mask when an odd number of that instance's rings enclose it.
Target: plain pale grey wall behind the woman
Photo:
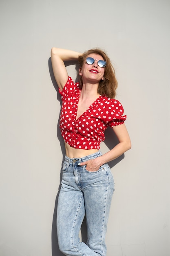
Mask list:
[[[101,47],[115,66],[132,149],[110,163],[107,255],[170,255],[169,13],[169,0],[0,0],[0,256],[62,256],[53,46]],[[75,65],[68,72],[76,78]]]

